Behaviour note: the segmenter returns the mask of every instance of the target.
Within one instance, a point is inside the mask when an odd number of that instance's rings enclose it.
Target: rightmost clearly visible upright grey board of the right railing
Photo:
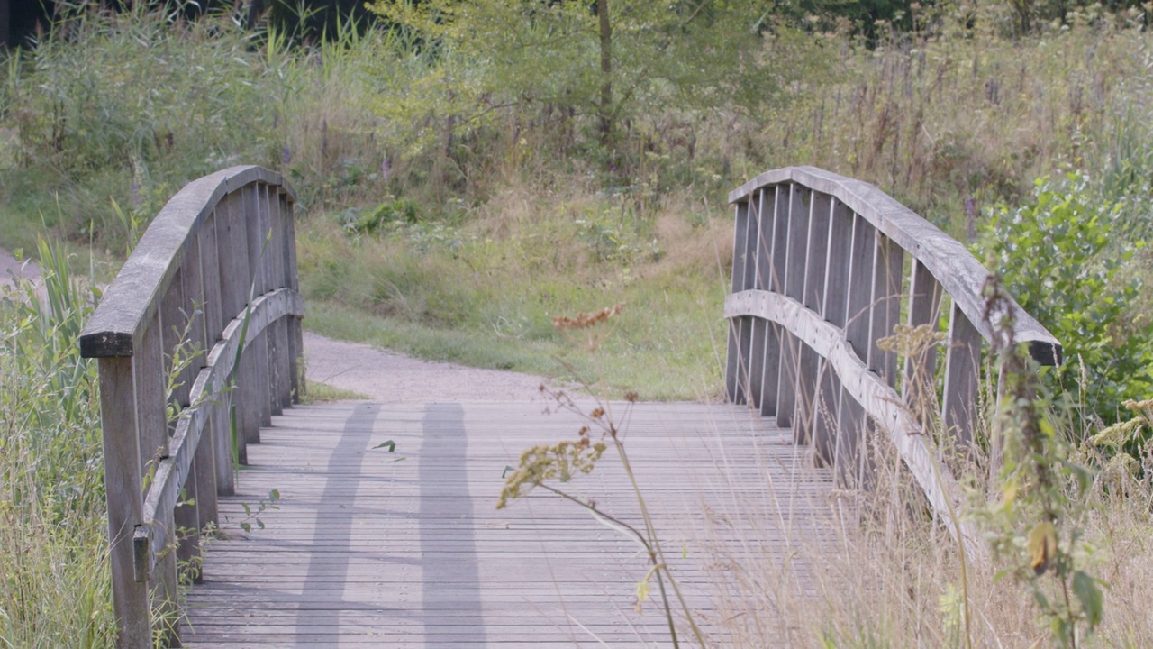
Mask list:
[[[954,303],[949,318],[948,343],[942,415],[945,431],[959,448],[965,448],[973,443],[973,424],[977,422],[981,334],[957,303]]]

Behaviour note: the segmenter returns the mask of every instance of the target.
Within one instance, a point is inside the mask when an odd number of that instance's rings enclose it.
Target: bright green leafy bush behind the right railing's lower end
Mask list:
[[[1140,278],[1122,274],[1144,241],[1122,238],[1120,218],[1084,176],[1041,179],[1028,204],[992,211],[984,244],[1022,308],[1064,345],[1050,387],[1105,423],[1153,386],[1153,322],[1135,315]]]

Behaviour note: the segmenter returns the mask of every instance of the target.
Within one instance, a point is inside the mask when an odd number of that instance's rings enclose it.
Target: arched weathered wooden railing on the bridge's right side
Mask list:
[[[861,445],[869,426],[886,430],[949,520],[956,503],[948,500],[958,490],[942,447],[974,441],[981,343],[993,334],[982,319],[988,271],[876,187],[820,169],[763,173],[729,201],[737,211],[725,300],[729,398],[792,426],[799,443],[812,443],[819,461],[854,484],[867,482]],[[939,331],[942,307],[948,326],[939,387],[933,346],[898,358],[877,341],[892,336],[900,320]],[[1039,363],[1061,361],[1060,343],[1019,307],[1013,331]],[[922,434],[939,424],[941,446]]]

